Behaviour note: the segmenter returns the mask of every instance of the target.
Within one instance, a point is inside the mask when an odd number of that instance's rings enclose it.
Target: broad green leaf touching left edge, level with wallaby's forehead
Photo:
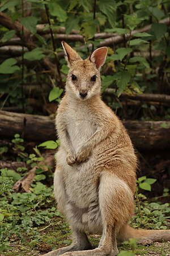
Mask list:
[[[19,66],[16,66],[15,58],[8,58],[0,65],[0,74],[13,74],[16,70],[20,70]]]

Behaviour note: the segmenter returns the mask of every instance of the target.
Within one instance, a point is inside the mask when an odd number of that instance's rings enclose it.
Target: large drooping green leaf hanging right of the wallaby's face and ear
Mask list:
[[[118,79],[116,83],[118,87],[117,96],[119,97],[130,81],[130,74],[128,71],[121,71],[118,73],[119,73],[118,75],[120,76],[120,79]],[[114,75],[114,78],[115,77],[116,75]]]

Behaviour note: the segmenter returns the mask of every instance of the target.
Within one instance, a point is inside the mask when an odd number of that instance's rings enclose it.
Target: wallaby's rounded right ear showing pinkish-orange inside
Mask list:
[[[108,53],[108,48],[101,47],[99,49],[96,49],[90,55],[90,61],[96,64],[97,69],[100,69],[101,66],[104,64],[107,53]]]

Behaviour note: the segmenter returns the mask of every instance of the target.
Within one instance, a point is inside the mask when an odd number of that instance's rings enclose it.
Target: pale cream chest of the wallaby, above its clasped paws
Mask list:
[[[71,104],[65,113],[66,128],[75,152],[96,131],[96,122],[86,104]]]

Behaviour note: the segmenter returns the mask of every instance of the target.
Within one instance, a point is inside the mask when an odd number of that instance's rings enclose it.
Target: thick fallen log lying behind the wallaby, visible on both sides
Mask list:
[[[25,140],[56,140],[54,120],[49,116],[28,115],[0,111],[0,138],[14,137],[19,133]],[[170,148],[169,121],[123,121],[137,149],[155,150]]]

